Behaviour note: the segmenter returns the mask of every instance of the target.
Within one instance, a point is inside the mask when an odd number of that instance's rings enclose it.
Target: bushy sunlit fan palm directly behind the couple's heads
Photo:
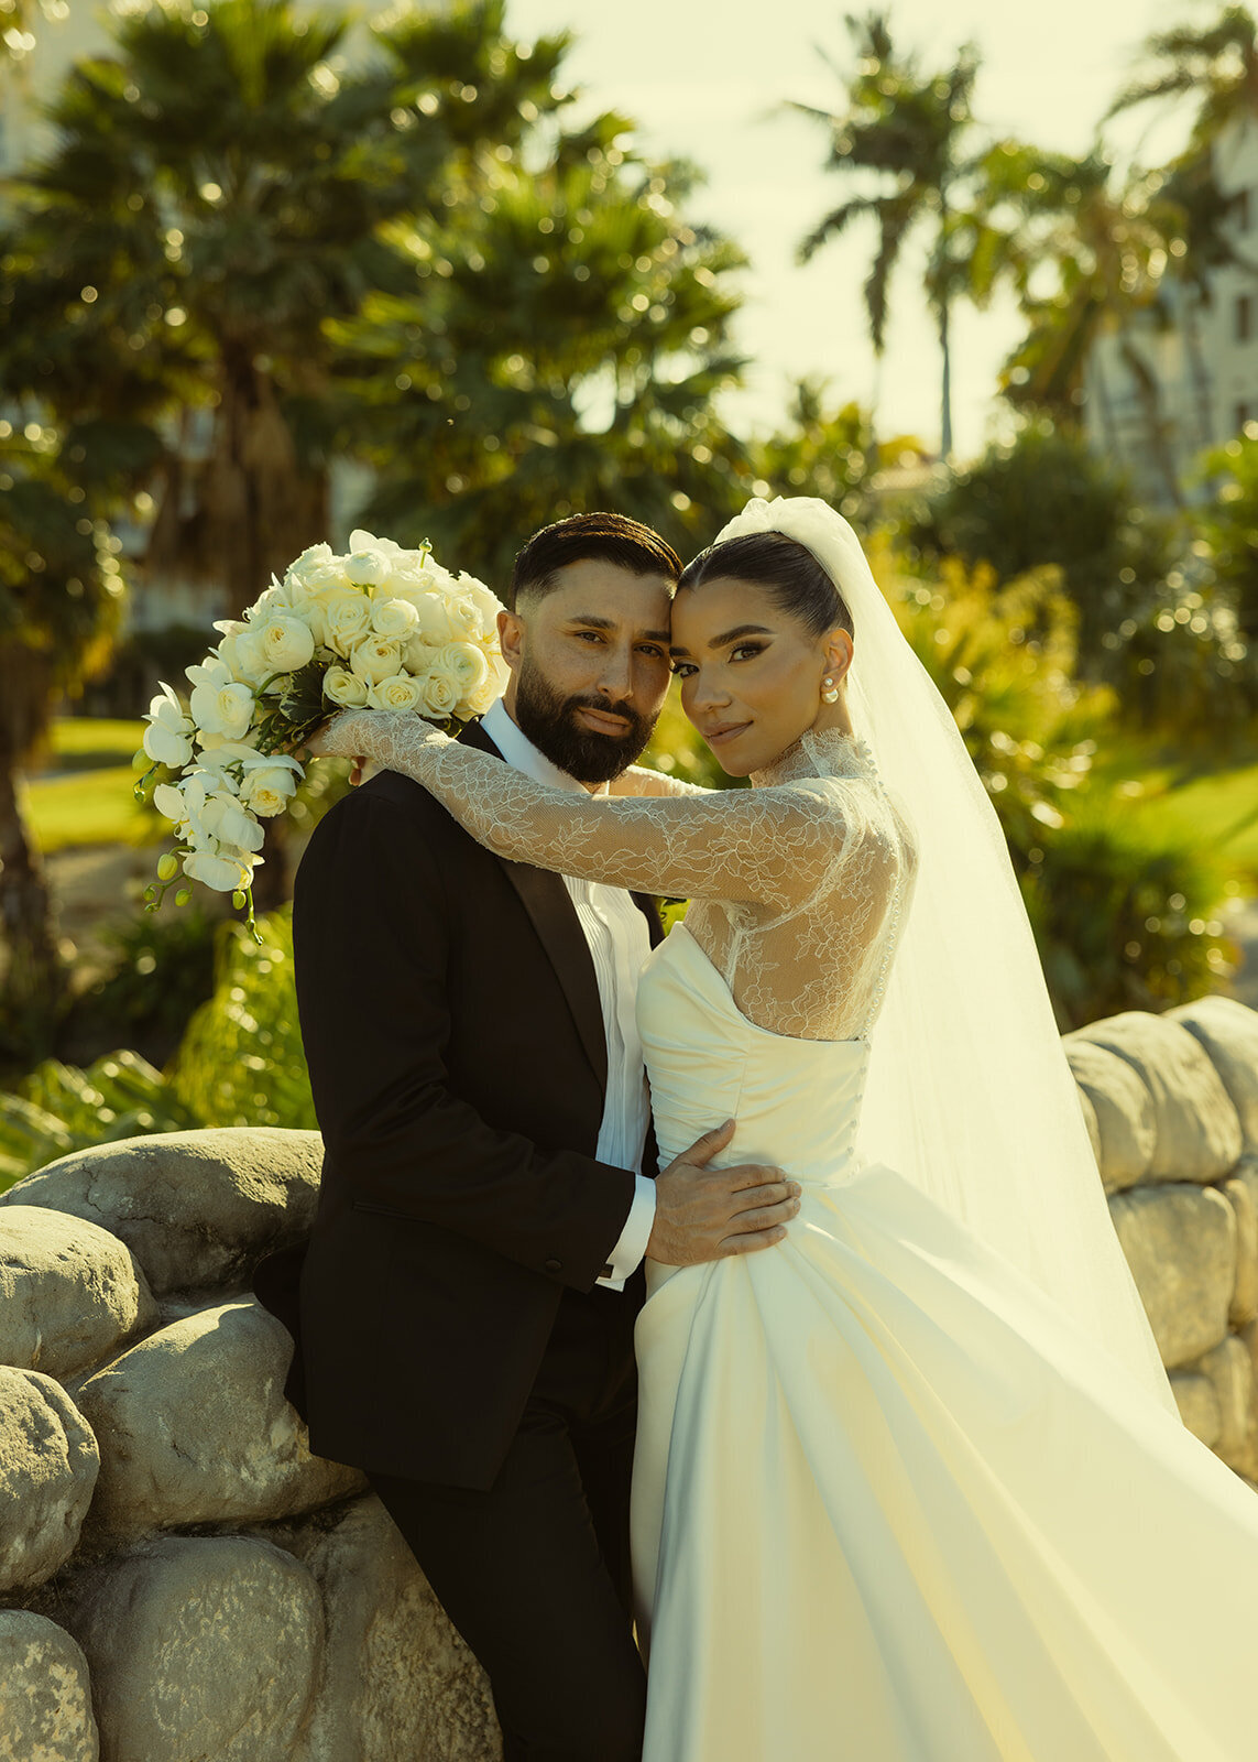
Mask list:
[[[694,550],[751,483],[714,411],[744,259],[685,222],[687,167],[625,152],[625,129],[499,160],[479,210],[400,229],[418,291],[335,328],[377,467],[363,520],[499,585],[520,536],[569,511],[615,506]]]

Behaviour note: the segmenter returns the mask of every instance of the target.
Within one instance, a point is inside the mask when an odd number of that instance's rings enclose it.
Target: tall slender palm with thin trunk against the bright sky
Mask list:
[[[930,243],[925,291],[936,319],[943,356],[941,430],[943,453],[951,453],[951,308],[967,291],[964,257],[953,248],[958,208],[974,169],[967,137],[974,127],[971,99],[980,58],[964,46],[941,72],[921,72],[916,56],[897,49],[890,14],[847,18],[856,55],[856,72],[844,76],[846,107],[840,113],[793,104],[812,116],[830,136],[828,171],[846,178],[874,174],[876,189],[851,196],[833,208],[800,245],[807,263],[825,243],[842,236],[855,220],[870,217],[877,248],[865,280],[865,307],[874,354],[886,345],[886,312],[892,275],[909,234],[929,226]],[[833,63],[832,63],[833,65]]]

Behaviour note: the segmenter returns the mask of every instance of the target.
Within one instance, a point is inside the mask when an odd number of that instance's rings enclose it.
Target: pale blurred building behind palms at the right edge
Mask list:
[[[1258,435],[1258,122],[1232,127],[1216,178],[1235,197],[1228,234],[1240,264],[1203,291],[1166,273],[1158,305],[1092,349],[1084,379],[1089,439],[1147,500],[1191,499],[1196,462],[1253,426]]]

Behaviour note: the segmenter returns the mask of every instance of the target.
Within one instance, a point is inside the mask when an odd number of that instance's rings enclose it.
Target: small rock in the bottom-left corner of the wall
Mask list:
[[[0,1609],[0,1762],[97,1762],[88,1662],[28,1609]]]

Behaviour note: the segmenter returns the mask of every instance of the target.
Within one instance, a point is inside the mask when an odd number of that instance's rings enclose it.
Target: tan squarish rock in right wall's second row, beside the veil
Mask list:
[[[1135,1188],[1110,1200],[1110,1216],[1166,1369],[1217,1346],[1237,1283],[1237,1221],[1223,1195]]]

